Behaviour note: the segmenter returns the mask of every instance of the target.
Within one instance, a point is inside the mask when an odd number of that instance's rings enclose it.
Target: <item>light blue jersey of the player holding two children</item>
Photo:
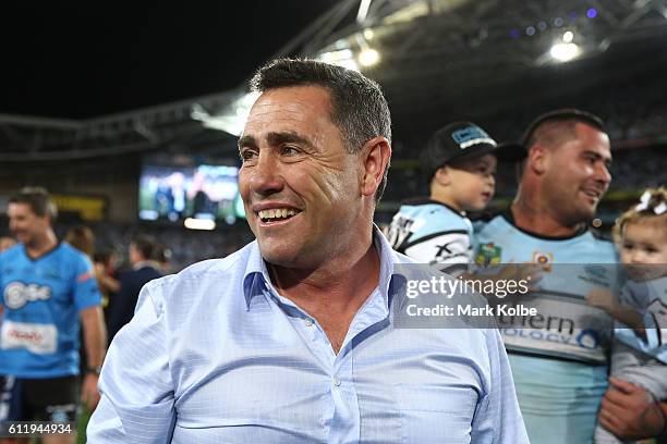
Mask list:
[[[613,321],[585,296],[594,287],[618,289],[614,244],[590,231],[567,238],[527,233],[514,226],[509,212],[475,229],[478,267],[544,266],[539,289],[522,300],[538,314],[522,317],[525,328],[517,328],[517,319],[499,319],[531,442],[592,443],[607,388],[609,341],[602,333],[611,331]],[[596,329],[584,326],[595,322]]]

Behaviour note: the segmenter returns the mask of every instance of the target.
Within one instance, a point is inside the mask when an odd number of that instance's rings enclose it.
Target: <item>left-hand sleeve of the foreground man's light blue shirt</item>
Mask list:
[[[101,400],[88,423],[88,443],[171,442],[174,398],[159,295],[159,281],[144,286],[134,318],[111,343],[99,380]]]

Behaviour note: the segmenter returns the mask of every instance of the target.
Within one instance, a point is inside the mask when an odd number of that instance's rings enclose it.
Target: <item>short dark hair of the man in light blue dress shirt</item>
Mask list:
[[[343,145],[357,153],[364,144],[377,136],[391,143],[391,115],[387,99],[377,83],[362,74],[316,60],[277,59],[260,67],[250,82],[251,90],[264,92],[291,86],[319,86],[331,96],[331,121],[338,126]],[[387,184],[383,181],[376,201]]]

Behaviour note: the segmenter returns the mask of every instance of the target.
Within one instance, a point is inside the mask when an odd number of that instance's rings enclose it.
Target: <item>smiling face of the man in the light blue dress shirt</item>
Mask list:
[[[359,156],[331,122],[329,92],[316,86],[264,92],[239,152],[241,196],[262,256],[283,267],[317,267],[347,248],[362,220]]]

